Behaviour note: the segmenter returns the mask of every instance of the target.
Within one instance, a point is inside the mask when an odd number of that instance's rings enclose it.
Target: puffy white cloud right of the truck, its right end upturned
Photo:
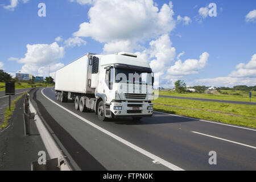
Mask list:
[[[181,60],[177,60],[174,65],[168,69],[169,76],[183,77],[185,75],[196,74],[200,69],[204,68],[207,64],[209,57],[208,52],[204,52],[200,55],[200,59],[187,59],[182,63]]]

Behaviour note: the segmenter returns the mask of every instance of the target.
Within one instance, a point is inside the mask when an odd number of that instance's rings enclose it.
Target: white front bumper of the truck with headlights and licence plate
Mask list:
[[[117,110],[115,106],[122,106],[122,109]],[[148,106],[153,107],[153,104],[148,102],[112,102],[110,110],[115,117],[150,117],[153,110],[148,109]]]

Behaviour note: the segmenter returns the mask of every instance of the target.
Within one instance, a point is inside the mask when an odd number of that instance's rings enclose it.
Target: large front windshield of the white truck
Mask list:
[[[130,69],[115,69],[115,82],[126,84],[152,85],[151,73],[134,71]]]

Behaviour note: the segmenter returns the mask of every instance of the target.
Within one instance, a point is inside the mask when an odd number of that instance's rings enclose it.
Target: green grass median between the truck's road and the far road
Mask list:
[[[154,110],[256,128],[256,106],[159,97]],[[164,104],[170,106],[163,106]]]

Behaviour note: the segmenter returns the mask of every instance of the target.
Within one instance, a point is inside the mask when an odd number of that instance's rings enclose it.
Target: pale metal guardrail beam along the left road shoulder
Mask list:
[[[32,105],[31,101],[29,101],[29,107],[30,107],[31,113],[35,113],[36,127],[38,128],[40,137],[43,140],[44,146],[46,147],[46,150],[50,158],[51,159],[58,158],[59,160],[63,159],[65,164],[67,165],[62,164],[60,166],[61,171],[72,171],[71,167],[69,167],[67,163],[67,160],[65,160],[64,156],[61,154],[59,147],[57,147],[55,140],[53,140],[52,136],[49,134],[48,130],[46,129],[46,126],[44,126],[39,115],[36,114],[35,107]]]

